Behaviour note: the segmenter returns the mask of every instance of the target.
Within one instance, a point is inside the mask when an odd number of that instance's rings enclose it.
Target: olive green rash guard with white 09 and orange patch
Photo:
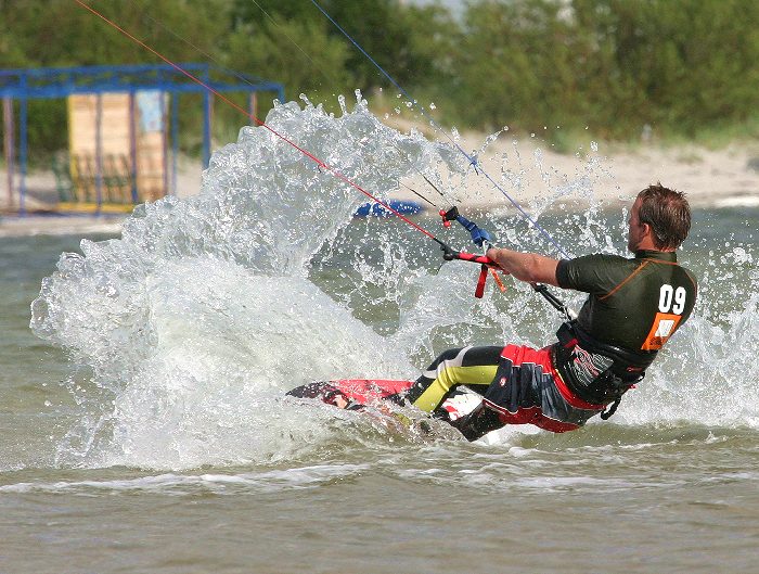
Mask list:
[[[563,289],[589,294],[577,318],[589,335],[649,357],[691,316],[698,291],[695,277],[678,264],[674,252],[562,259],[556,281]]]

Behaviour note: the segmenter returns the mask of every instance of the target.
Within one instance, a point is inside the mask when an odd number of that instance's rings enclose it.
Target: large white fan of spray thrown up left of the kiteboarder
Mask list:
[[[335,117],[308,102],[279,105],[267,123],[380,196],[438,164],[458,169],[447,148],[387,128],[362,99],[342,106]],[[31,328],[91,369],[98,398],[74,385],[89,410],[60,462],[281,456],[321,432],[272,400],[282,391],[346,373],[409,374],[402,349],[308,278],[314,253],[363,200],[271,131],[245,127],[214,154],[198,196],[146,204],[121,239],[62,255]]]

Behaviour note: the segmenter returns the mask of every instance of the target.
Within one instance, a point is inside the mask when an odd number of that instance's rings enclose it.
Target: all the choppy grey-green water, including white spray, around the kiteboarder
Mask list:
[[[268,122],[381,195],[420,174],[466,194],[449,148],[362,103]],[[578,162],[586,177],[529,207],[571,253],[623,253],[627,214],[593,201],[604,166]],[[440,268],[396,219],[351,221],[361,202],[244,128],[200,196],[140,208],[119,239],[0,239],[0,572],[756,570],[759,211],[696,211],[680,256],[695,316],[610,421],[468,444],[282,398],[414,377],[448,346],[542,345],[558,324],[511,281],[478,302],[476,267]],[[509,208],[477,215],[548,248]]]

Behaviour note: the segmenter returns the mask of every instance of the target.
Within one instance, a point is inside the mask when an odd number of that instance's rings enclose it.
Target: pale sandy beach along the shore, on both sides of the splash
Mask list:
[[[460,144],[481,150],[485,136],[467,135]],[[559,154],[538,140],[514,140],[501,135],[478,161],[525,208],[545,197],[571,199],[576,190],[592,189],[593,196],[616,203],[629,201],[648,183],[661,183],[687,193],[694,207],[736,207],[759,205],[759,145],[732,144],[712,151],[697,146],[662,149],[641,145],[635,150],[605,150],[588,142],[575,154]],[[191,196],[200,191],[200,162],[182,160],[177,177],[177,194]],[[412,178],[408,187],[424,190],[425,183]],[[581,184],[578,184],[581,183]],[[18,183],[16,180],[16,188]],[[18,197],[9,197],[8,175],[0,169],[0,237],[24,234],[117,233],[126,215],[60,215],[55,213],[55,178],[49,171],[34,171],[26,178],[24,216],[15,212]],[[583,192],[584,193],[584,192]],[[483,176],[472,175],[455,190],[463,207],[493,208],[509,201]],[[419,202],[408,189],[395,197]]]

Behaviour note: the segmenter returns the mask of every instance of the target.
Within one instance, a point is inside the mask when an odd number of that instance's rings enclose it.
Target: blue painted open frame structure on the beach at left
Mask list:
[[[177,173],[177,146],[179,115],[178,99],[180,94],[203,93],[203,167],[210,161],[210,116],[213,93],[216,92],[247,92],[258,91],[276,93],[280,102],[284,103],[284,87],[281,84],[265,80],[255,76],[241,74],[206,63],[178,64],[188,74],[193,75],[205,86],[201,86],[186,74],[168,64],[144,64],[123,66],[85,66],[62,68],[30,68],[0,69],[0,98],[18,100],[18,169],[20,181],[20,214],[24,214],[24,196],[26,194],[27,174],[27,102],[33,99],[66,98],[76,93],[136,93],[140,90],[160,90],[171,98],[171,144],[172,171]],[[249,115],[253,116],[253,103],[249,103]],[[12,130],[5,126],[5,130]],[[11,138],[12,141],[12,138]],[[10,150],[7,153],[14,153]],[[10,162],[11,165],[13,162]],[[10,168],[11,166],[9,166]],[[173,178],[176,181],[176,177]]]

